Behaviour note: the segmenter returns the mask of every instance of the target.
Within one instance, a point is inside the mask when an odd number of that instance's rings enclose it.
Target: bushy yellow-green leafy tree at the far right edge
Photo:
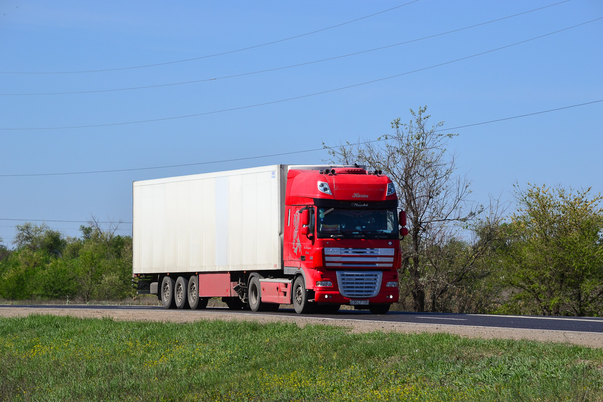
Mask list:
[[[514,292],[507,312],[601,315],[603,196],[537,186],[516,190],[512,237],[502,250]]]

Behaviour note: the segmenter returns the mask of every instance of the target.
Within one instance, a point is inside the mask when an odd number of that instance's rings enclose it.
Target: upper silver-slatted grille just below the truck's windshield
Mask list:
[[[324,248],[324,265],[332,267],[391,268],[393,248]]]

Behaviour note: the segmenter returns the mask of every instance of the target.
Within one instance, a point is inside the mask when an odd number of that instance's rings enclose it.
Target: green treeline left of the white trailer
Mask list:
[[[132,237],[93,219],[69,237],[46,224],[16,225],[14,248],[0,242],[0,298],[7,300],[123,300],[131,286]]]

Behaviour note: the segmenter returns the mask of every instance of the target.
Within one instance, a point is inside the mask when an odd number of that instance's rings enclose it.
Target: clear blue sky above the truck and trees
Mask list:
[[[0,218],[46,219],[77,236],[90,214],[131,222],[134,180],[318,163],[321,148],[391,133],[395,118],[428,105],[445,128],[603,99],[603,2],[562,4],[420,39],[558,1],[18,1],[0,3]],[[397,7],[397,8],[394,8]],[[380,11],[388,10],[384,13]],[[360,19],[371,14],[371,17]],[[359,19],[359,20],[356,20]],[[344,24],[328,30],[323,28]],[[312,31],[272,45],[244,51]],[[198,58],[198,60],[131,68]],[[443,66],[436,66],[437,64]],[[427,68],[427,69],[425,69]],[[70,74],[15,74],[74,72]],[[117,70],[116,70],[117,69]],[[419,69],[423,71],[412,72]],[[248,107],[353,86],[290,101]],[[241,75],[233,78],[221,78]],[[217,78],[216,80],[210,80]],[[140,86],[200,83],[113,92]],[[247,108],[241,108],[247,107]],[[221,111],[236,109],[230,111]],[[603,190],[603,102],[451,130],[472,196],[511,199],[513,184]],[[189,118],[138,124],[124,122]],[[95,125],[88,128],[56,128]],[[33,130],[33,129],[36,130]],[[42,128],[42,130],[37,130]],[[54,129],[50,129],[54,128]],[[19,129],[19,130],[14,130]],[[206,163],[181,168],[52,176]],[[0,220],[10,247],[14,224]],[[37,222],[41,223],[41,222]],[[131,226],[122,224],[122,234]]]

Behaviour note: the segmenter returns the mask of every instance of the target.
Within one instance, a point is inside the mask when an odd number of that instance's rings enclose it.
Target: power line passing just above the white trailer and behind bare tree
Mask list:
[[[458,130],[459,128],[474,127],[476,125],[490,124],[490,123],[495,123],[495,122],[500,122],[500,121],[505,121],[505,120],[524,118],[524,117],[527,117],[527,116],[541,115],[542,113],[550,113],[551,111],[564,110],[564,109],[569,109],[569,108],[573,108],[573,107],[579,107],[579,106],[584,106],[584,105],[595,104],[595,103],[598,103],[598,102],[603,102],[603,99],[600,99],[598,101],[585,102],[585,103],[576,104],[576,105],[558,107],[558,108],[549,109],[549,110],[535,111],[533,113],[527,113],[525,115],[518,115],[518,116],[511,116],[509,118],[502,118],[502,119],[490,120],[490,121],[473,123],[473,124],[459,125],[457,127],[452,127],[452,128],[442,128],[440,130],[435,130],[435,131],[439,132],[439,131]],[[364,145],[364,144],[367,144],[367,143],[377,142],[377,141],[384,141],[384,140],[385,139],[382,139],[382,140],[369,140],[369,141],[363,141],[363,142],[350,143],[350,144],[346,144],[344,146]],[[323,151],[326,148],[333,148],[333,147],[327,146],[327,147],[323,147],[323,148],[305,149],[303,151],[281,152],[279,154],[249,156],[249,157],[236,158],[236,159],[213,160],[213,161],[210,161],[210,162],[185,163],[185,164],[182,164],[182,165],[151,166],[151,167],[148,167],[148,168],[114,169],[114,170],[87,171],[87,172],[13,174],[13,175],[0,175],[0,177],[60,176],[60,175],[78,175],[78,174],[132,172],[132,171],[145,171],[145,170],[151,170],[151,169],[183,168],[183,167],[186,167],[186,166],[211,165],[213,163],[238,162],[238,161],[241,161],[241,160],[262,159],[262,158],[268,158],[268,157],[274,157],[274,156],[282,156],[282,155],[291,155],[291,154],[302,154],[302,153],[306,153],[306,152]],[[2,219],[0,219],[0,220],[2,220]],[[16,220],[16,219],[14,219],[14,220]],[[108,223],[108,222],[102,222],[102,223]],[[122,223],[130,223],[130,222],[122,222]]]

